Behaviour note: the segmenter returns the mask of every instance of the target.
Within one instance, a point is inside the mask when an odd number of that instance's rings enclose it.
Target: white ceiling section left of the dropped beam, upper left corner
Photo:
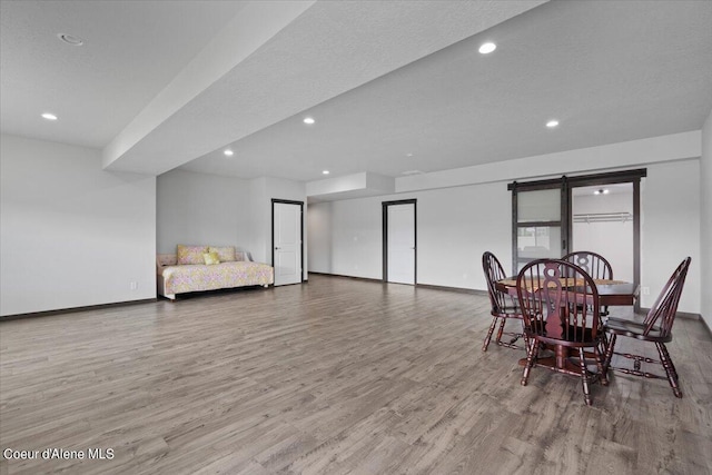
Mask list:
[[[2,0],[2,132],[103,148],[240,8],[226,1]],[[58,33],[85,44],[66,44]],[[43,121],[44,111],[60,120]]]

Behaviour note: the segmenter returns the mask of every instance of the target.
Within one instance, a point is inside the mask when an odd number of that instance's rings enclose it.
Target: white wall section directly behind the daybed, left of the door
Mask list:
[[[234,177],[171,170],[157,182],[157,248],[176,245],[237,246],[251,251],[248,181]]]

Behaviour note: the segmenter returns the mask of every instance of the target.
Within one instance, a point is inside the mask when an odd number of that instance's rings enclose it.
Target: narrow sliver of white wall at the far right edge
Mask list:
[[[701,281],[712,281],[712,111],[702,128],[702,159],[700,160],[701,209],[700,244],[701,258],[698,261],[702,270]],[[712,328],[712,291],[702,293],[702,318]]]

